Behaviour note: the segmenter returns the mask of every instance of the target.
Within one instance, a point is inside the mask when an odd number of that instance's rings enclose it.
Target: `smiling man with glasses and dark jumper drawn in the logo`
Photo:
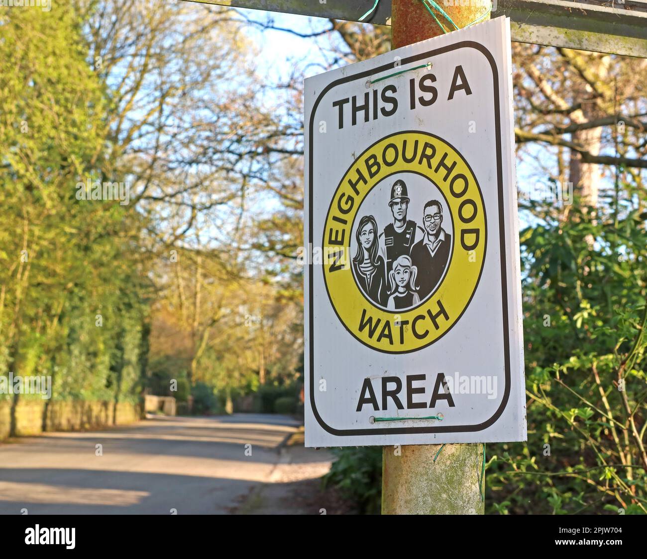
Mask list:
[[[418,269],[418,296],[424,301],[443,277],[452,248],[452,235],[443,229],[443,207],[438,200],[427,202],[422,213],[424,237],[411,249],[411,260]]]

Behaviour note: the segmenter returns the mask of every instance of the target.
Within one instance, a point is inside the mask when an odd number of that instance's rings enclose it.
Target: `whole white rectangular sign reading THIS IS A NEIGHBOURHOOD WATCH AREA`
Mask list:
[[[305,442],[526,439],[509,20],[305,81]]]

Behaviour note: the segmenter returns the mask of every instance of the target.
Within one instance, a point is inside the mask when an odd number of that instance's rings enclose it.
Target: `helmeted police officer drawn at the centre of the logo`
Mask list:
[[[407,219],[409,201],[404,180],[396,180],[391,186],[391,200],[389,200],[393,223],[384,227],[379,238],[380,253],[386,263],[386,277],[389,277],[393,269],[393,262],[400,256],[410,256],[413,245],[424,237],[424,229],[415,221]],[[392,290],[393,286],[390,288]]]

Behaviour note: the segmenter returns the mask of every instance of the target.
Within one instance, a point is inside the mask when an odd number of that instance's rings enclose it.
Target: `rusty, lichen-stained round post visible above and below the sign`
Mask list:
[[[421,0],[391,2],[393,48],[444,34]],[[481,21],[490,17],[487,0],[437,0],[437,4],[459,28],[483,14],[487,15]],[[444,18],[437,17],[444,24]],[[384,447],[382,514],[483,514],[483,452],[481,444]]]

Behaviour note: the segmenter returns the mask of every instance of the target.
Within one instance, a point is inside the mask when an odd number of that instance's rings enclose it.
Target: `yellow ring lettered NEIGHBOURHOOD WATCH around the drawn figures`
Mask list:
[[[412,158],[415,145],[417,156]],[[421,153],[426,157],[421,157]],[[404,160],[405,154],[410,162]],[[441,160],[444,165],[439,165]],[[367,161],[379,162],[379,169],[373,164],[369,173]],[[448,167],[452,169],[450,173]],[[454,247],[444,278],[426,301],[406,311],[387,311],[375,306],[356,285],[351,269],[353,223],[362,202],[375,185],[396,173],[417,173],[430,179],[443,193],[454,224]],[[349,181],[355,182],[355,188]],[[351,196],[353,202],[349,207]],[[335,190],[323,230],[325,286],[346,330],[366,346],[386,353],[414,352],[440,339],[460,319],[474,296],[485,262],[486,224],[476,177],[452,145],[426,132],[399,132],[371,145],[356,158]],[[468,250],[476,235],[478,243]]]

